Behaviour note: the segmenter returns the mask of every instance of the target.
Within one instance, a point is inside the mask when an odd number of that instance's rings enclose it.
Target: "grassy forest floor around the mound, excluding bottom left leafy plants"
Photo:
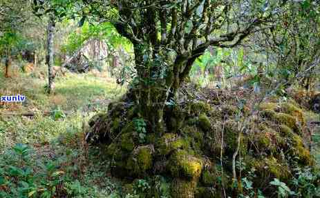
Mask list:
[[[57,77],[53,95],[45,92],[46,80],[35,75],[19,72],[5,79],[0,72],[0,82],[0,95],[26,95],[27,99],[0,104],[0,167],[1,160],[15,160],[15,144],[23,143],[30,148],[30,166],[36,172],[47,171],[41,164],[55,164],[69,197],[119,196],[120,183],[105,171],[108,164],[100,160],[97,149],[88,149],[84,139],[88,119],[106,111],[109,102],[125,92],[124,87],[91,72]],[[308,117],[319,119],[313,114]],[[310,127],[314,142],[320,142],[319,126]],[[320,145],[314,143],[312,152],[320,161]]]

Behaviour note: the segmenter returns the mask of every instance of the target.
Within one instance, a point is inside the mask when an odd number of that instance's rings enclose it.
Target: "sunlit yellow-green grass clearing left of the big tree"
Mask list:
[[[50,143],[70,127],[81,128],[96,112],[106,111],[108,103],[124,94],[125,88],[113,79],[90,73],[67,73],[55,79],[52,95],[45,92],[46,79],[18,74],[5,79],[0,72],[0,95],[26,95],[27,103],[0,106],[0,151],[19,143]],[[49,112],[61,110],[66,117],[56,120]],[[20,114],[34,112],[35,117]],[[1,115],[2,114],[2,115]],[[8,115],[9,114],[9,115]]]

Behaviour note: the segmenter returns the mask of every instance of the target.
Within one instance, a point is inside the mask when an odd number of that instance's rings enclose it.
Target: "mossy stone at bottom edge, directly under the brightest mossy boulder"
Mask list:
[[[186,181],[183,179],[173,179],[171,184],[171,197],[172,198],[192,198],[196,182]]]

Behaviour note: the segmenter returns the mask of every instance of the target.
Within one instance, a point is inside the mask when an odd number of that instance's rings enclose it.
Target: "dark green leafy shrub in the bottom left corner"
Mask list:
[[[32,150],[18,143],[0,159],[0,197],[53,197],[64,194],[65,172],[56,161],[32,159]]]

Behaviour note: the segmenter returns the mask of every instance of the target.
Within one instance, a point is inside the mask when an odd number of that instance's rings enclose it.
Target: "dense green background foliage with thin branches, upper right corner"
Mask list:
[[[290,3],[271,28],[253,35],[247,45],[266,57],[265,75],[283,88],[298,83],[314,89],[320,61],[319,9],[316,1]]]

